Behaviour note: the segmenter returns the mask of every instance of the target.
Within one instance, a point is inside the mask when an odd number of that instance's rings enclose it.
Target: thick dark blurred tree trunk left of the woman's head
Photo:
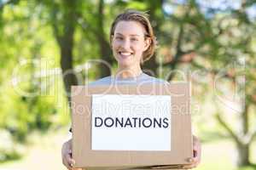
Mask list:
[[[54,3],[52,8],[52,26],[55,38],[59,44],[61,52],[61,72],[64,82],[67,100],[71,101],[71,86],[77,85],[78,80],[73,71],[73,35],[75,31],[76,2],[64,1],[63,7]],[[57,13],[62,13],[61,19],[57,18]]]

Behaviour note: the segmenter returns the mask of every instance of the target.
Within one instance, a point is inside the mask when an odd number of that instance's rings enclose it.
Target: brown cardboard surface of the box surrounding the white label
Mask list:
[[[91,95],[102,93],[170,95],[172,97],[172,150],[90,150]],[[85,167],[86,169],[127,169],[166,165],[166,168],[173,166],[177,168],[176,165],[189,164],[188,160],[192,157],[188,83],[141,86],[73,86],[72,121],[75,167]],[[148,168],[157,169],[157,167]],[[164,168],[160,167],[160,169]]]

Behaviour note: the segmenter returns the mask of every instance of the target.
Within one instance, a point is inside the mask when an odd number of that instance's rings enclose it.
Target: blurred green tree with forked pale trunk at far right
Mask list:
[[[240,105],[243,110],[236,117],[234,126],[227,121],[229,113],[218,110],[216,120],[229,134],[237,146],[239,166],[252,165],[249,160],[250,146],[255,138],[256,131],[253,129],[255,116],[252,108],[255,108],[255,100],[251,93],[255,92],[255,74],[252,69],[255,66],[255,21],[249,20],[247,8],[253,5],[253,1],[241,1],[241,8],[226,8],[224,11],[218,8],[207,8],[208,12],[201,11],[200,1],[191,0],[184,4],[173,4],[178,9],[172,14],[172,24],[177,23],[179,27],[178,38],[173,59],[166,63],[172,70],[183,68],[182,65],[171,65],[172,62],[184,61],[190,65],[191,69],[207,71],[212,75],[212,81],[217,81],[219,75],[224,82],[222,86],[234,87],[245,92],[245,103]],[[183,11],[183,12],[182,12]],[[174,24],[175,25],[175,24]],[[187,58],[187,59],[186,59]],[[241,60],[245,58],[245,64]],[[230,66],[236,63],[237,67],[246,65],[244,71]],[[246,86],[239,80],[239,76],[247,77]],[[213,83],[214,85],[214,83]],[[216,85],[216,84],[215,84]],[[208,90],[214,89],[210,86]],[[218,90],[218,89],[217,89]],[[204,92],[207,94],[207,91]],[[217,100],[216,93],[214,100]],[[216,105],[219,108],[219,105]],[[230,116],[230,115],[229,115]],[[237,129],[241,127],[241,131]]]

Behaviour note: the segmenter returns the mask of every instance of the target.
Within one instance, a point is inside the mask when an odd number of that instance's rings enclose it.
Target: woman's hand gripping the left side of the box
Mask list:
[[[72,139],[62,144],[61,149],[62,163],[68,170],[81,170],[82,168],[73,168],[75,161],[72,158]]]

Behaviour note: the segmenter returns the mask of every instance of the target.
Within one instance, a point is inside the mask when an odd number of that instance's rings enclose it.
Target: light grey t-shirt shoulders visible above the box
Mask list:
[[[131,78],[119,78],[119,77],[103,77],[99,80],[96,80],[95,82],[90,82],[89,85],[110,85],[110,84],[148,84],[148,83],[169,83],[165,80],[151,77],[145,73],[141,73],[137,77],[131,77]]]

